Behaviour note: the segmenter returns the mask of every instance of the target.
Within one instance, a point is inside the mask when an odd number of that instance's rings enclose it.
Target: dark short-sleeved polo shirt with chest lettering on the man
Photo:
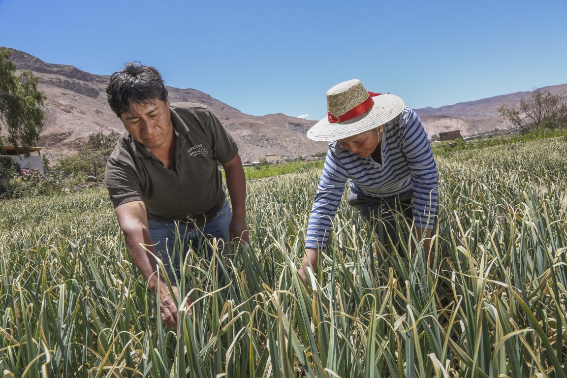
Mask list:
[[[143,201],[149,219],[196,219],[204,223],[225,202],[221,171],[238,152],[232,137],[205,105],[172,103],[176,131],[175,170],[163,163],[129,133],[120,137],[107,161],[105,184],[115,207]]]

